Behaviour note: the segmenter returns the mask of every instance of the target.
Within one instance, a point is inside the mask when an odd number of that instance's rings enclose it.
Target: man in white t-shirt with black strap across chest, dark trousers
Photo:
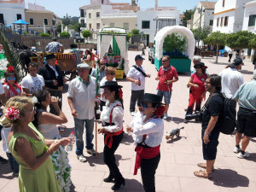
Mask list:
[[[145,78],[150,78],[150,74],[145,73],[143,67],[143,60],[145,60],[142,55],[136,55],[135,61],[136,65],[132,66],[127,74],[126,79],[131,82],[131,101],[130,101],[130,113],[131,116],[134,115],[135,105],[141,105],[143,100],[144,90],[145,90]]]

